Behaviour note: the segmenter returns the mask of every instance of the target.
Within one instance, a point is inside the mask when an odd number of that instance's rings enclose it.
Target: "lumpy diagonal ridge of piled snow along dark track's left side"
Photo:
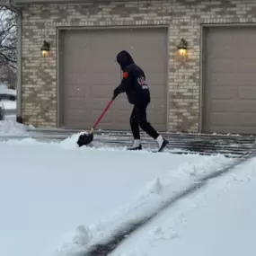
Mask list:
[[[224,166],[224,163],[228,164],[232,161],[224,156],[204,157],[200,163],[185,163],[177,170],[171,170],[169,177],[164,179],[156,177],[146,184],[137,198],[127,206],[119,208],[118,212],[111,213],[99,223],[79,225],[73,234],[67,236],[69,241],[66,241],[54,255],[79,256],[90,252],[97,243],[108,243],[123,229],[128,229],[154,216],[172,200],[178,199],[180,194],[191,185],[197,186],[200,177],[216,172],[218,168]],[[157,229],[155,232],[157,233]]]

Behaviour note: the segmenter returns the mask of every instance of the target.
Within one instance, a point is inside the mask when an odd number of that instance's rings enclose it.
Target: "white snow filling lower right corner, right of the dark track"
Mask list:
[[[112,256],[241,256],[256,250],[256,158],[208,181],[128,237]]]

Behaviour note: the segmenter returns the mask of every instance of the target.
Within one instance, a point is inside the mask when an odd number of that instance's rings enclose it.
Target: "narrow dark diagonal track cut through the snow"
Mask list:
[[[143,220],[137,221],[130,225],[125,225],[122,229],[119,230],[115,235],[113,235],[107,242],[105,243],[97,243],[92,246],[89,252],[84,253],[83,256],[107,256],[113,252],[120,243],[122,243],[129,235],[132,235],[133,232],[137,231],[143,225],[146,225],[150,220],[152,220],[155,216],[162,213],[164,209],[168,207],[172,207],[176,202],[180,199],[183,199],[190,194],[200,190],[201,188],[207,185],[207,181],[212,179],[216,179],[221,177],[222,175],[232,172],[235,167],[238,165],[250,161],[254,156],[256,156],[256,143],[252,146],[252,150],[246,154],[243,158],[235,159],[233,163],[228,163],[222,169],[217,170],[216,172],[211,172],[210,174],[205,175],[202,178],[199,178],[198,182],[193,183],[186,190],[182,190],[180,193],[177,193],[170,200],[167,200],[162,207],[158,208],[151,216],[144,218]]]

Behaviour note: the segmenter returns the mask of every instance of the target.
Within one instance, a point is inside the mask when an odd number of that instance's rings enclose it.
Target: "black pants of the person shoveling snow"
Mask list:
[[[139,127],[142,128],[150,137],[154,139],[158,137],[157,131],[150,125],[146,120],[146,106],[134,106],[131,116],[129,119],[130,127],[132,130],[133,137],[135,139],[140,139]]]

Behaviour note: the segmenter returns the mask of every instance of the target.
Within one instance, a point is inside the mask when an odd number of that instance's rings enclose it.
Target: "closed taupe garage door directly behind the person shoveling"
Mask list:
[[[71,30],[61,34],[61,117],[64,128],[91,128],[119,85],[117,53],[126,49],[145,69],[152,102],[148,119],[166,130],[167,31],[165,29]],[[129,129],[131,105],[119,95],[97,128]]]

